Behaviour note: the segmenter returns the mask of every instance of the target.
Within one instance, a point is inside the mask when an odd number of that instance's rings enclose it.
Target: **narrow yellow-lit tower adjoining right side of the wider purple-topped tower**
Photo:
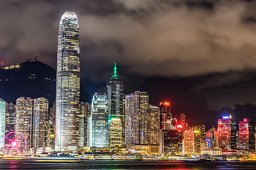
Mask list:
[[[159,145],[159,130],[160,130],[160,112],[159,107],[150,106],[148,108],[148,125],[149,125],[149,145]]]

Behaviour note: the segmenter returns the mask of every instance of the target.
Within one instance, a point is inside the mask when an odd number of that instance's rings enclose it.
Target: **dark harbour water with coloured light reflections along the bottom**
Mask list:
[[[171,160],[0,160],[0,169],[256,169],[256,162]]]

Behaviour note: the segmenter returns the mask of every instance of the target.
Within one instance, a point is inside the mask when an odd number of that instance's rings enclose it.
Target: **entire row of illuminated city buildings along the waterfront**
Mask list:
[[[74,12],[67,11],[59,26],[56,103],[49,108],[44,97],[19,97],[16,104],[0,99],[0,147],[5,147],[5,135],[16,131],[24,135],[27,152],[33,154],[42,147],[75,152],[123,148],[142,155],[255,150],[255,123],[248,118],[237,129],[236,120],[224,116],[217,129],[206,131],[203,124],[189,126],[184,113],[174,116],[170,101],[151,105],[150,94],[124,94],[123,86],[115,63],[107,91],[95,92],[92,103],[80,101],[79,22]]]

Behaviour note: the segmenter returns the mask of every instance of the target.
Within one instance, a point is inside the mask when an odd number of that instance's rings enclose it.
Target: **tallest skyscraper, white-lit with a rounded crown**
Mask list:
[[[79,23],[75,12],[61,16],[56,76],[56,151],[78,150],[80,96]]]

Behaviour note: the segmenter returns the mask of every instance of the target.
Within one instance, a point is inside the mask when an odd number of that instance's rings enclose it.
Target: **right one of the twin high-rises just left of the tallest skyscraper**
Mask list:
[[[48,100],[44,97],[34,99],[32,122],[32,146],[47,146]]]

